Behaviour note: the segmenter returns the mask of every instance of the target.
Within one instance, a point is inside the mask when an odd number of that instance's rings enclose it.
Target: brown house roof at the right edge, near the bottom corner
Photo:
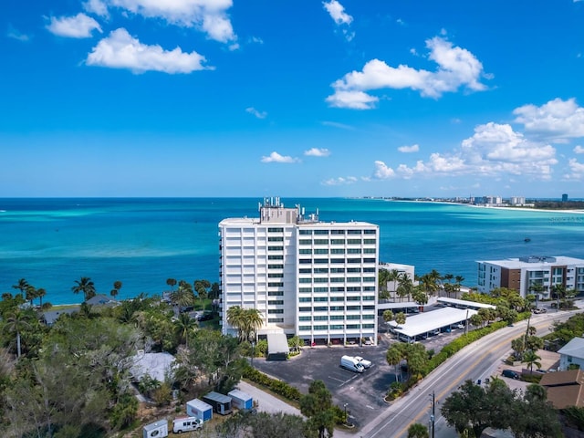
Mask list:
[[[569,370],[548,372],[539,384],[547,390],[547,400],[556,409],[568,406],[584,407],[584,372]]]

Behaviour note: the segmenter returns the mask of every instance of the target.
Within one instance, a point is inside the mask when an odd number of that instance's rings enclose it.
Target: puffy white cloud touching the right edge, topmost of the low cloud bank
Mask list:
[[[516,122],[522,123],[528,133],[549,138],[552,141],[566,141],[584,137],[584,108],[576,99],[553,99],[537,107],[524,105],[513,111]]]

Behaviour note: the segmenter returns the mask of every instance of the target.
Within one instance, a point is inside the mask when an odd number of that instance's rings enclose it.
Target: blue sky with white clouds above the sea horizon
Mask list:
[[[5,0],[0,196],[584,197],[584,1]]]

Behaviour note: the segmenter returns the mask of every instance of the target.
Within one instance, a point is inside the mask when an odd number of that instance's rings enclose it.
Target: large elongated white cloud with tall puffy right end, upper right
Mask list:
[[[330,106],[369,110],[377,98],[366,93],[375,89],[414,89],[423,97],[439,98],[445,92],[464,87],[483,91],[480,82],[485,77],[483,64],[474,55],[441,36],[426,40],[429,59],[438,67],[435,71],[416,69],[404,65],[390,67],[380,59],[371,59],[362,71],[352,71],[332,84],[335,93],[328,96]]]

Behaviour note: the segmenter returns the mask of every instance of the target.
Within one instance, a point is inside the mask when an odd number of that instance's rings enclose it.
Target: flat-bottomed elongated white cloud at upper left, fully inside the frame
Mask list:
[[[147,46],[130,36],[124,28],[116,29],[99,41],[89,53],[89,66],[128,68],[134,73],[162,71],[164,73],[191,73],[204,67],[205,58],[196,52],[186,53],[180,47],[164,50]]]

